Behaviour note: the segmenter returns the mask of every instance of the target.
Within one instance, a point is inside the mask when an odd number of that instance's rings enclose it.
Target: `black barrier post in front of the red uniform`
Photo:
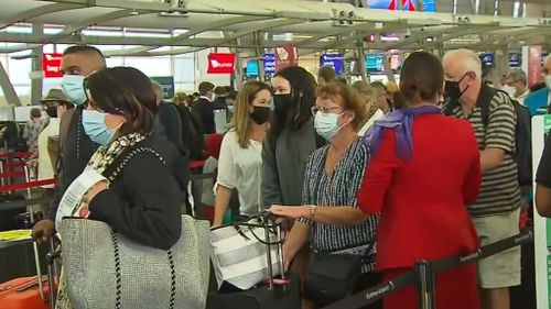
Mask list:
[[[431,262],[419,261],[413,267],[420,309],[436,308],[436,282]]]

